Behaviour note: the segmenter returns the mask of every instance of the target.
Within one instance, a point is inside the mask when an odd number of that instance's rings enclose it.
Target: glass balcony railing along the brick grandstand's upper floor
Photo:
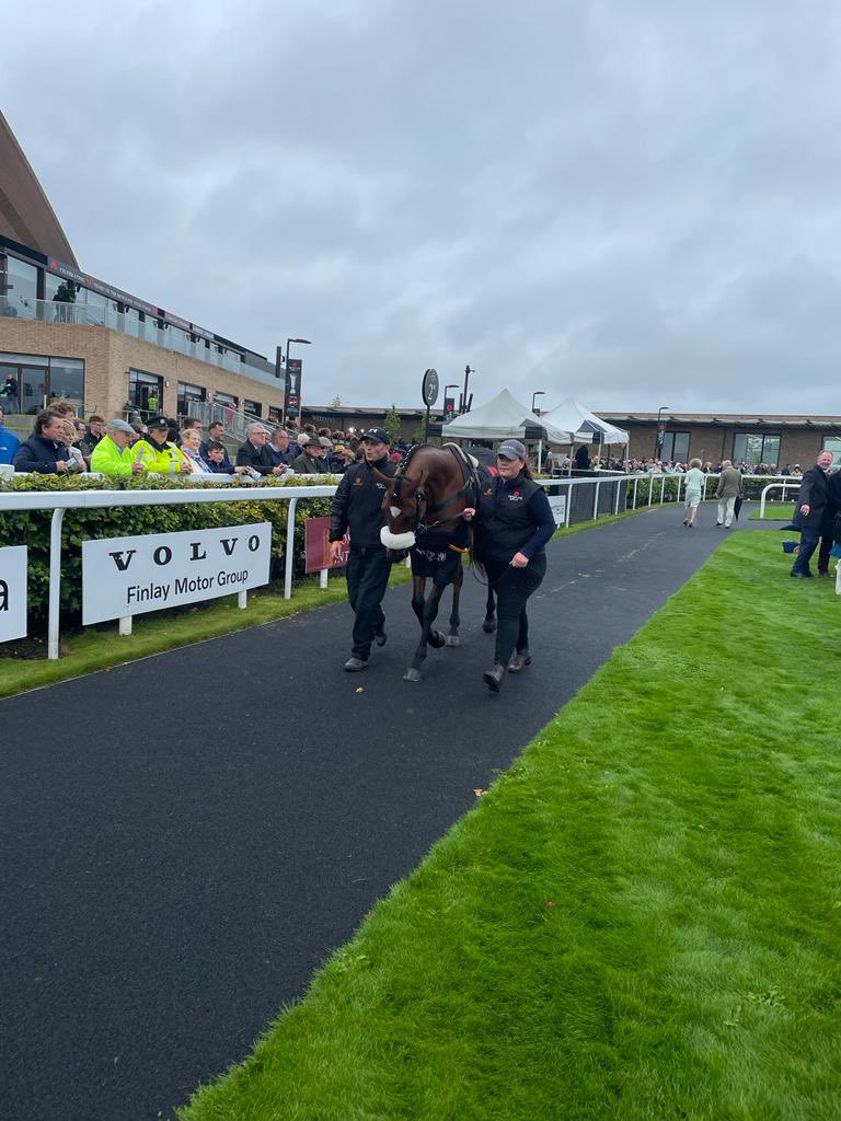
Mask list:
[[[123,305],[119,305],[123,306]],[[141,319],[137,309],[129,307],[118,311],[112,300],[103,304],[63,304],[53,299],[12,299],[0,296],[0,322],[4,318],[37,319],[40,323],[67,323],[84,327],[109,327],[123,335],[139,339],[141,342],[163,346],[176,354],[197,359],[209,365],[230,370],[246,378],[252,378],[265,385],[277,386],[277,380],[268,370],[250,365],[242,361],[238,351],[229,350],[218,343],[205,345],[204,339],[193,341],[191,335],[166,321],[147,315]],[[159,324],[164,324],[160,326]]]

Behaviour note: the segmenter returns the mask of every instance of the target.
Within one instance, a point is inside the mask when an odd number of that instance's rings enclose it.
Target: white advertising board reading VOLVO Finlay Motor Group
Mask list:
[[[269,582],[271,526],[82,541],[82,622],[232,595]]]

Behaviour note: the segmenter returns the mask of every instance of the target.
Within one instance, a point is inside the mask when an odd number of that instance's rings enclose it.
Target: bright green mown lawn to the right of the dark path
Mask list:
[[[841,1117],[841,601],[777,546],[723,541],[184,1121]]]

